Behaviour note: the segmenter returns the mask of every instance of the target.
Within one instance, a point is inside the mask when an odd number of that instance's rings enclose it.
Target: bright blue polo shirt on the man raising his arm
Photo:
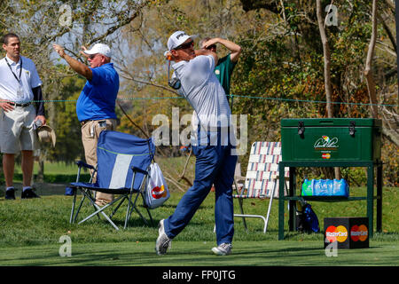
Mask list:
[[[76,103],[79,121],[116,119],[115,100],[119,91],[119,75],[113,63],[90,69],[93,77],[84,85]]]

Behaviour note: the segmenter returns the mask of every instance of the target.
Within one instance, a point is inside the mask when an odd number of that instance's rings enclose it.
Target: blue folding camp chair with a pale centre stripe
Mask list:
[[[118,226],[113,223],[112,217],[116,211],[121,207],[124,201],[128,201],[128,208],[126,210],[125,225],[127,227],[129,218],[133,210],[137,211],[137,214],[143,219],[146,225],[148,225],[145,217],[137,209],[137,199],[141,195],[143,204],[145,205],[145,186],[147,184],[149,166],[153,161],[155,154],[155,146],[153,145],[153,138],[143,139],[137,138],[134,135],[122,133],[118,131],[104,130],[100,133],[98,138],[97,155],[98,164],[97,167],[88,165],[84,162],[76,162],[78,165],[78,173],[76,182],[71,183],[70,187],[74,191],[72,210],[70,216],[70,223],[74,223],[78,214],[82,208],[83,201],[88,199],[91,205],[94,207],[94,213],[88,217],[82,219],[79,224],[89,220],[91,217],[98,216],[101,214],[106,217],[106,220],[113,225],[116,230],[119,230]],[[80,174],[82,168],[92,170],[90,182],[80,182]],[[94,175],[96,175],[96,182],[91,183]],[[74,212],[76,194],[77,191],[82,193],[82,200]],[[99,207],[95,203],[95,197],[92,191],[100,193],[113,193],[120,196],[115,198],[104,207]],[[133,195],[136,194],[134,201],[132,200]],[[107,216],[105,209],[115,205],[111,215]],[[150,210],[147,210],[148,216],[153,223],[153,217],[151,217]]]

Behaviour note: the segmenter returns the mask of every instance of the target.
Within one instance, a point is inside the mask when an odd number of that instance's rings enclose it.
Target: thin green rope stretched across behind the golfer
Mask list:
[[[256,96],[241,96],[241,95],[227,95],[231,98],[246,98],[246,99],[266,99],[266,100],[279,100],[286,102],[302,102],[302,103],[312,103],[312,104],[327,104],[324,100],[311,100],[311,99],[283,99],[283,98],[270,98],[270,97],[256,97]],[[184,99],[183,97],[152,97],[152,98],[118,98],[118,100],[157,100],[157,99]],[[43,100],[31,100],[27,102],[31,103],[59,103],[59,102],[76,102],[77,99],[43,99]],[[22,103],[27,103],[22,102]],[[391,105],[391,104],[366,104],[366,103],[350,103],[350,102],[336,102],[332,101],[332,105],[349,105],[349,106],[394,106],[397,107],[399,105]]]

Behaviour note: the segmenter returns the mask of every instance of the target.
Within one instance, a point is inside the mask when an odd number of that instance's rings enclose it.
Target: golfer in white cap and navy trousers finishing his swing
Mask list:
[[[194,108],[197,119],[192,131],[192,151],[196,156],[195,178],[191,188],[177,204],[175,212],[160,220],[156,241],[158,255],[166,254],[178,233],[189,224],[212,184],[215,184],[215,225],[217,247],[212,251],[219,256],[231,254],[234,234],[231,185],[237,155],[232,154],[231,110],[223,87],[214,69],[217,55],[213,51],[194,51],[193,36],[176,31],[168,38],[167,56],[181,83],[179,93]]]

